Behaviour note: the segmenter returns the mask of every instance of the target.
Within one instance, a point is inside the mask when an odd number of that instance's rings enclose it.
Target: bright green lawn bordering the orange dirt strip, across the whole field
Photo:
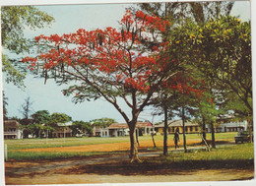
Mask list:
[[[233,137],[236,133],[217,133],[216,140],[222,141],[232,141],[234,142]],[[163,136],[157,135],[154,137],[155,141],[162,141]],[[168,135],[168,141],[172,140],[173,135]],[[183,136],[180,134],[180,140]],[[201,139],[198,134],[187,134],[187,140],[195,140]],[[211,140],[211,134],[207,134],[207,139]],[[143,136],[139,137],[139,141],[152,141],[151,136]],[[96,138],[96,137],[84,137],[84,138],[66,138],[65,141],[63,138],[58,139],[25,139],[25,140],[5,140],[4,143],[8,145],[8,158],[9,159],[54,159],[54,158],[66,158],[66,157],[74,157],[74,156],[88,156],[88,155],[104,155],[104,154],[116,154],[120,152],[94,152],[94,153],[76,153],[76,152],[20,152],[15,150],[22,150],[22,149],[34,149],[34,148],[55,148],[55,147],[74,147],[74,146],[85,146],[85,145],[96,145],[96,144],[114,144],[114,143],[121,143],[121,142],[129,142],[129,137],[118,137],[118,138]],[[237,148],[236,148],[237,147]],[[181,147],[182,148],[182,147]],[[244,149],[246,148],[246,149]],[[162,151],[162,148],[159,148],[155,151]],[[13,150],[13,151],[10,151]],[[151,149],[153,150],[153,149]],[[243,154],[242,152],[249,151],[249,153]],[[253,158],[253,145],[238,145],[235,146],[233,150],[229,151],[226,154],[226,151],[220,150],[213,150],[210,153],[208,152],[197,152],[197,153],[189,153],[189,154],[173,154],[172,159],[175,160],[184,160],[184,159],[218,159],[218,158]],[[247,155],[247,156],[244,156]]]

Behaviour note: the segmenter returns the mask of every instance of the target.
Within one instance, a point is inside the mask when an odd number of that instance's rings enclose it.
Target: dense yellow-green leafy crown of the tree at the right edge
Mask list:
[[[202,73],[207,86],[225,100],[235,93],[240,99],[235,102],[244,104],[252,115],[250,22],[220,16],[202,26],[188,22],[175,31],[180,34],[172,43],[180,45],[183,59],[190,56],[190,63]]]

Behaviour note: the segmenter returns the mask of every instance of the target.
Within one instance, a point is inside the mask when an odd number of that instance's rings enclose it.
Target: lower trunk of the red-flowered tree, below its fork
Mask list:
[[[138,144],[136,142],[136,131],[135,127],[134,129],[130,129],[130,159],[131,162],[140,162],[141,160],[139,159],[138,156]]]

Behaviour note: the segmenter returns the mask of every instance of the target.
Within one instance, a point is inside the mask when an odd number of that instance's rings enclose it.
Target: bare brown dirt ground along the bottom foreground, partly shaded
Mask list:
[[[86,159],[84,159],[86,160]],[[75,164],[74,160],[73,164]],[[61,163],[61,162],[59,162]],[[72,161],[70,162],[72,163]],[[43,165],[42,163],[41,165]],[[253,167],[246,168],[184,168],[162,164],[130,164],[126,160],[96,162],[82,166],[59,167],[39,172],[6,176],[7,185],[80,184],[80,183],[139,183],[250,180]],[[24,164],[30,166],[31,163]],[[34,165],[34,164],[33,164]],[[38,166],[39,167],[39,166]]]

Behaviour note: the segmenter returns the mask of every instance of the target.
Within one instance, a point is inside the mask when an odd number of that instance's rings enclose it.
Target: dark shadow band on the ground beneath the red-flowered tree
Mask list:
[[[179,162],[130,163],[129,161],[106,162],[69,169],[70,174],[95,173],[99,175],[189,175],[207,169],[251,169],[253,159],[246,160],[186,160]]]

